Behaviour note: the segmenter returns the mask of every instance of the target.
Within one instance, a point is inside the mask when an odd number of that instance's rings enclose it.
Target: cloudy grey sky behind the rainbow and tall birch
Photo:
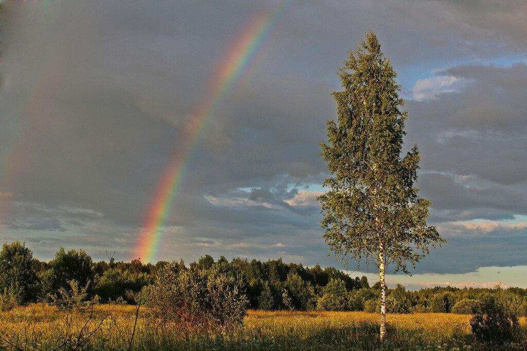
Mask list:
[[[152,260],[205,254],[345,268],[315,197],[331,92],[373,30],[402,84],[405,150],[447,239],[407,287],[527,287],[524,1],[42,1],[2,4],[0,242],[135,258],[217,67],[257,18],[250,62],[185,153]],[[349,267],[348,267],[349,268]],[[351,272],[362,275],[363,272]],[[373,274],[373,273],[371,273]],[[374,279],[374,275],[371,275]]]

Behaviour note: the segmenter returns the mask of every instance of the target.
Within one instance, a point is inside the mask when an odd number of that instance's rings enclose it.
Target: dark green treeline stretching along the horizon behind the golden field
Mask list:
[[[25,244],[5,243],[0,252],[0,295],[9,294],[18,304],[45,301],[61,289],[69,289],[69,281],[87,286],[87,293],[99,296],[101,302],[133,303],[133,294],[153,284],[157,272],[167,261],[143,264],[132,262],[94,262],[84,250],[60,248],[55,258],[44,262],[33,258]],[[220,267],[243,282],[242,289],[253,309],[277,310],[355,310],[376,312],[379,309],[379,283],[370,286],[366,276],[352,278],[334,267],[304,267],[284,263],[282,259],[261,262],[256,259],[210,255],[190,265],[180,260],[178,272],[189,269]],[[480,297],[500,293],[512,300],[518,314],[527,315],[527,289],[522,288],[454,288],[434,287],[408,291],[402,285],[388,289],[388,313],[444,312],[471,313]]]

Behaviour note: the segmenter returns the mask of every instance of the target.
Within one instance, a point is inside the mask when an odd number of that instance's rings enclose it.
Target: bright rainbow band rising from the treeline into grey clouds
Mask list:
[[[194,118],[184,131],[179,147],[175,149],[171,164],[165,169],[155,190],[153,202],[139,234],[134,257],[151,262],[158,250],[161,230],[165,217],[170,212],[172,199],[178,192],[188,159],[198,144],[214,113],[225,101],[226,96],[246,71],[251,59],[264,44],[276,16],[260,14],[233,43],[226,57],[213,76],[209,97],[200,105]]]

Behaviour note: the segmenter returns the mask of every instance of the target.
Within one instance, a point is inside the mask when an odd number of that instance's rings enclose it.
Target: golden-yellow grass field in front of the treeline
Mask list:
[[[127,349],[134,306],[110,305],[90,313],[58,312],[34,304],[0,313],[0,349]],[[132,349],[479,349],[470,334],[470,316],[388,315],[389,338],[378,342],[378,315],[363,312],[249,311],[231,333],[177,332],[154,325],[142,309]],[[101,322],[102,321],[102,322]],[[527,329],[521,320],[523,334]],[[525,349],[525,338],[509,349]]]

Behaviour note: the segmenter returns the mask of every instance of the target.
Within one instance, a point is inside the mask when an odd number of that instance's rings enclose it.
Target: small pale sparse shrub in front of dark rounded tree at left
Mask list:
[[[85,310],[99,302],[99,297],[95,296],[92,300],[89,299],[87,290],[90,286],[90,281],[84,287],[79,286],[76,280],[68,280],[69,288],[58,288],[56,294],[49,294],[48,300],[51,305],[56,306],[60,310]]]

